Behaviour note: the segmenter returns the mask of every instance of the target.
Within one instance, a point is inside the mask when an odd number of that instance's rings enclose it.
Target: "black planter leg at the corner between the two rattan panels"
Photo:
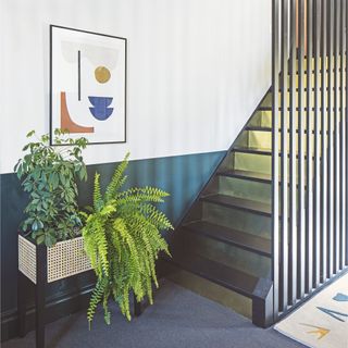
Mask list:
[[[37,246],[36,250],[36,348],[45,348],[47,250],[45,246]]]

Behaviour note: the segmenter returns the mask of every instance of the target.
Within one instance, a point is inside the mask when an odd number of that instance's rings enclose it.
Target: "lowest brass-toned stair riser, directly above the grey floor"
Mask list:
[[[231,308],[246,318],[251,319],[252,300],[246,296],[232,291],[172,264],[167,266],[166,278],[200,296]]]

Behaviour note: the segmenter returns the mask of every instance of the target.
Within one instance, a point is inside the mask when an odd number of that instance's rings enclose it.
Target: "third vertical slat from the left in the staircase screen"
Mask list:
[[[290,108],[289,108],[289,229],[290,229],[290,304],[297,299],[297,160],[296,160],[296,59],[297,59],[297,0],[290,0]]]

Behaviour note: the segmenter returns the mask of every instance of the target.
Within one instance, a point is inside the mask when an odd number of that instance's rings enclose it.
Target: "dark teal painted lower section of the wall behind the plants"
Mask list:
[[[171,194],[162,210],[176,224],[210,178],[224,152],[188,154],[132,161],[127,174],[132,186],[157,186]],[[79,185],[79,203],[90,202],[94,174],[101,174],[105,186],[116,163],[88,166],[88,182]],[[27,198],[14,174],[1,175],[1,314],[14,315],[16,310],[17,228],[23,220]],[[76,293],[92,278],[80,275],[50,285],[48,296]],[[28,289],[32,294],[33,289]]]

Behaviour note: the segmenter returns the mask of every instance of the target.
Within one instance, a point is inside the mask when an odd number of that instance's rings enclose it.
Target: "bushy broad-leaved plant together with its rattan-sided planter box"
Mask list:
[[[87,178],[82,157],[87,139],[72,139],[61,129],[54,130],[54,144],[62,146],[51,146],[48,135],[37,137],[34,130],[27,138],[34,139],[14,169],[29,197],[18,236],[18,269],[36,283],[37,246],[45,245],[50,283],[90,269],[83,252],[76,184]]]

